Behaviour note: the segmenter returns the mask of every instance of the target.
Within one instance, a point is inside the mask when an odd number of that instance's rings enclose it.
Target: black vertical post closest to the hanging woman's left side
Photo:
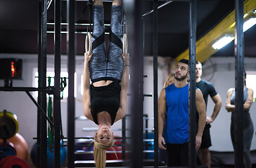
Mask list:
[[[76,36],[75,36],[75,0],[67,3],[68,11],[68,167],[73,168],[75,161],[75,55],[76,55]]]

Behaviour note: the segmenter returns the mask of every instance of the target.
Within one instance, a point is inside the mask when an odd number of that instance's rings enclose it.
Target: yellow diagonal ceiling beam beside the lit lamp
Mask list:
[[[256,16],[253,13],[253,10],[256,9],[256,1],[255,0],[246,0],[244,2],[244,20],[248,20],[248,18],[252,17],[252,15]],[[211,57],[218,49],[212,48],[212,44],[217,41],[217,39],[221,38],[225,34],[234,35],[235,32],[235,10],[233,10],[224,20],[219,22],[217,26],[215,26],[212,30],[210,30],[205,36],[200,38],[196,42],[196,60],[199,62],[205,62],[206,59]],[[176,57],[176,61],[179,59],[188,59],[188,49],[182,52],[178,57]]]

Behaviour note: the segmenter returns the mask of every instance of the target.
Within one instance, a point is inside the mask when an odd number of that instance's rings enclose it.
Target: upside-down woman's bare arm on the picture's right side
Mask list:
[[[120,109],[117,112],[115,122],[124,118],[127,112],[127,92],[129,85],[129,53],[126,53],[125,55],[122,54],[122,59],[124,60],[124,69],[122,71],[121,79]]]

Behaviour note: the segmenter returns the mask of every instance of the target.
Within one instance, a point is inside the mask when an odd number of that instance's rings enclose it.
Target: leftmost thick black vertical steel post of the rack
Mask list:
[[[39,1],[38,72],[39,87],[46,87],[47,0]],[[38,92],[38,103],[46,112],[46,92]],[[46,120],[37,110],[37,166],[47,167]]]

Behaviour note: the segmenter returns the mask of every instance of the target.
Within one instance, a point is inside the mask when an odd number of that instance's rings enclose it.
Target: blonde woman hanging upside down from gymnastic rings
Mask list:
[[[114,144],[111,125],[127,112],[129,53],[122,54],[122,1],[111,7],[110,44],[105,51],[103,2],[94,1],[92,54],[84,53],[84,116],[98,125],[94,137],[94,160],[105,167],[106,150]],[[90,83],[91,79],[91,83]]]

